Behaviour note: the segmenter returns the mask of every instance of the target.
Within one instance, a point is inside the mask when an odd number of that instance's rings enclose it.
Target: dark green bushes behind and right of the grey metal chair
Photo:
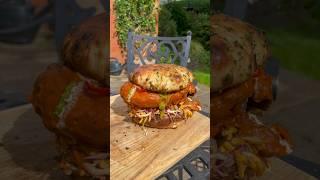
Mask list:
[[[159,35],[185,36],[192,32],[189,68],[200,74],[210,69],[210,0],[186,0],[161,6]]]

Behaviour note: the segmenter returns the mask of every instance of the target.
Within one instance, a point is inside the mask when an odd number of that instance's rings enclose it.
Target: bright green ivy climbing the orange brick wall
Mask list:
[[[122,48],[126,48],[128,31],[139,34],[156,32],[155,0],[115,0],[116,31]]]

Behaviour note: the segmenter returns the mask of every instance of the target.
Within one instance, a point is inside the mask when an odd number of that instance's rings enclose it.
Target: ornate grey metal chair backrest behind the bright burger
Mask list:
[[[127,72],[151,63],[179,63],[186,67],[189,59],[191,31],[183,37],[159,37],[128,32]]]

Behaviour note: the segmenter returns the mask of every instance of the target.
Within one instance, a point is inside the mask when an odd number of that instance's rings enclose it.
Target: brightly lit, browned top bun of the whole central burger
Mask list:
[[[187,68],[175,64],[148,64],[135,69],[130,81],[149,91],[170,93],[186,88],[193,81],[193,75]]]

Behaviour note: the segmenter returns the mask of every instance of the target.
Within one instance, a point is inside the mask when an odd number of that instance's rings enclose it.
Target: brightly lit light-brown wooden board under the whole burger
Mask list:
[[[210,137],[210,120],[200,113],[177,129],[146,128],[145,135],[120,96],[110,104],[111,179],[154,179]]]

